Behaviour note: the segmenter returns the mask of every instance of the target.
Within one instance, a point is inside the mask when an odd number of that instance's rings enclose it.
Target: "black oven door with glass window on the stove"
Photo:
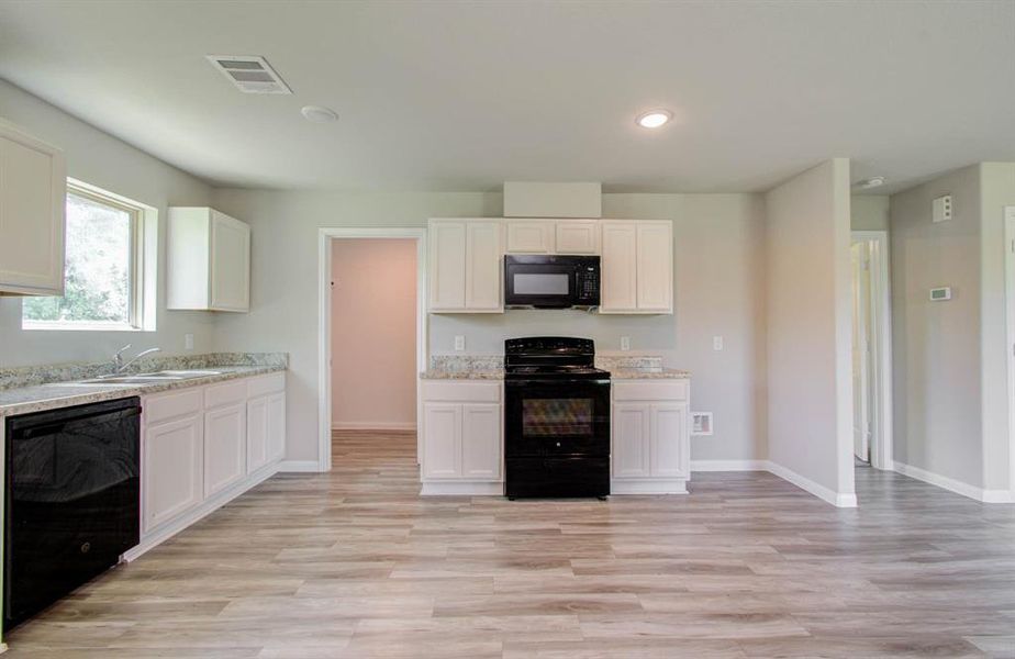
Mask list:
[[[609,457],[610,380],[505,382],[506,457]]]

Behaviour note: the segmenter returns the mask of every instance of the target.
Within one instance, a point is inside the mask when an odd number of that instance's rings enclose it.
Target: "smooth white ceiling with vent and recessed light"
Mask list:
[[[756,191],[848,156],[885,192],[1015,160],[1013,0],[3,0],[0,78],[220,186]]]

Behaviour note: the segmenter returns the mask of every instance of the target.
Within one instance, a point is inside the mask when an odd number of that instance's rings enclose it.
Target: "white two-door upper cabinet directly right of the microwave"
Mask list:
[[[601,313],[673,312],[669,221],[602,223]]]

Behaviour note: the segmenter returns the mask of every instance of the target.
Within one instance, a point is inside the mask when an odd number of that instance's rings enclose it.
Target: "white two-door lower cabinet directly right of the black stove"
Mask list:
[[[614,494],[687,492],[691,478],[689,410],[687,380],[614,382]]]

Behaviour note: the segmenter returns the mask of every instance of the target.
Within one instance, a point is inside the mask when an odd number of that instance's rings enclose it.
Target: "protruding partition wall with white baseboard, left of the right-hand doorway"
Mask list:
[[[851,505],[849,160],[768,192],[766,227],[769,459]]]

